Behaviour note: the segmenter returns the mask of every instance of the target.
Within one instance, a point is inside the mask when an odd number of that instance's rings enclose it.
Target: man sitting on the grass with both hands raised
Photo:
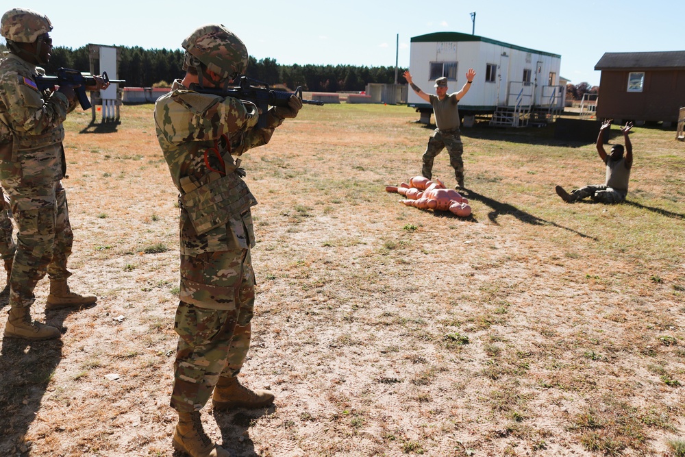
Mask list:
[[[628,137],[633,125],[626,123],[625,127],[621,127],[621,133],[625,140],[625,157],[623,157],[622,145],[613,145],[609,154],[604,150],[603,133],[609,127],[611,127],[611,119],[599,127],[599,136],[597,136],[597,153],[599,153],[602,162],[606,164],[606,182],[574,189],[571,190],[570,194],[562,186],[556,186],[554,190],[566,203],[573,203],[586,197],[590,197],[595,203],[621,203],[625,200],[625,196],[628,194],[630,169],[633,166],[633,146]]]

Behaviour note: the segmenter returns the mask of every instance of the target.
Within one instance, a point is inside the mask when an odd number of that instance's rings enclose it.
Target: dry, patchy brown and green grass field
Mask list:
[[[45,315],[43,280],[33,314],[62,340],[2,341],[2,456],[177,455],[177,191],[152,110],[65,124],[70,284],[99,301]],[[207,406],[208,433],[237,456],[685,456],[685,144],[634,127],[627,202],[570,205],[553,187],[603,182],[594,145],[466,129],[460,219],[384,191],[419,174],[416,119],[306,106],[243,156],[260,203],[241,377],[276,402]],[[447,153],[434,177],[455,184]]]

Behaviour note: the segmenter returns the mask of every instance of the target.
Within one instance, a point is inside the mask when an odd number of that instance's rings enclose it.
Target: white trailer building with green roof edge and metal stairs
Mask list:
[[[411,39],[409,69],[424,92],[434,93],[435,80],[442,76],[448,79],[448,92],[456,92],[466,82],[466,70],[475,70],[473,86],[459,103],[464,125],[479,114],[490,114],[493,125],[514,127],[553,121],[566,97],[560,66],[561,55],[483,36],[437,32]],[[429,123],[432,108],[413,90],[408,106]]]

